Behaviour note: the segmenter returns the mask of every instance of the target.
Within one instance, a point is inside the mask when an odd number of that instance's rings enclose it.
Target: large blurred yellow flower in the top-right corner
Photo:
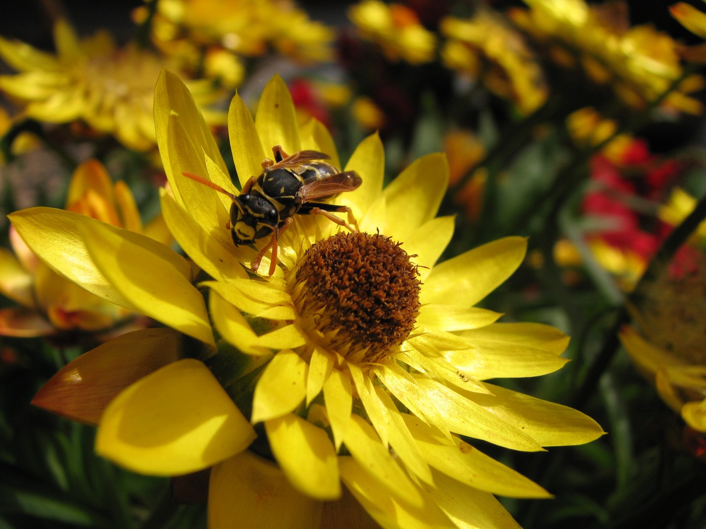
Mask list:
[[[580,64],[594,83],[610,83],[618,97],[638,109],[662,96],[683,75],[678,44],[651,25],[630,27],[622,2],[588,5],[584,0],[525,0],[529,10],[510,11],[513,21],[546,47],[563,66]],[[664,104],[689,114],[702,105],[689,97],[703,79],[678,83]]]

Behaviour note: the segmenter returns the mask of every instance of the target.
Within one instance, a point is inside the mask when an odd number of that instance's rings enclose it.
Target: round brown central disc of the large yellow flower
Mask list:
[[[421,281],[409,257],[380,234],[318,241],[301,257],[292,288],[307,332],[349,360],[381,360],[405,341],[419,314]]]

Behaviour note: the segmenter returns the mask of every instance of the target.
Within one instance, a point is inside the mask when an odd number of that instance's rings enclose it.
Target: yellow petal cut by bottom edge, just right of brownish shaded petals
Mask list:
[[[365,463],[350,456],[340,457],[338,461],[346,487],[381,527],[455,529],[429,494],[424,493],[421,504],[413,504],[390,494],[377,478],[365,470]],[[417,489],[418,494],[422,492]]]

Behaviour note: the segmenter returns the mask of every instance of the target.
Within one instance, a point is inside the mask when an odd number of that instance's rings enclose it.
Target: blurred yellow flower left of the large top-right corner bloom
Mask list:
[[[530,114],[546,100],[548,88],[537,59],[522,35],[490,11],[468,19],[447,17],[441,32],[448,37],[441,56],[446,66],[479,78],[491,92]]]

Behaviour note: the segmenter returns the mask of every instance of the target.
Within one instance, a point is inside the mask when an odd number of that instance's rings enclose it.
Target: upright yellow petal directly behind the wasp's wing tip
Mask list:
[[[348,160],[345,171],[356,171],[363,180],[357,190],[340,196],[341,204],[352,207],[356,219],[361,220],[383,191],[385,150],[377,133],[369,135],[359,143]]]

